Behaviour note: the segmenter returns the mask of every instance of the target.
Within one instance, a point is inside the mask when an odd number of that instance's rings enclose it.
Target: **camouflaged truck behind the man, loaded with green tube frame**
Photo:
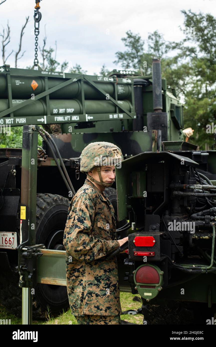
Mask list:
[[[90,142],[113,142],[121,148],[124,159],[137,158],[140,153],[152,151],[152,147],[161,151],[166,141],[183,143],[183,107],[175,90],[167,88],[166,80],[161,78],[159,59],[153,60],[152,76],[139,76],[132,70],[113,70],[107,77],[89,76],[15,69],[9,65],[0,67],[0,71],[1,129],[32,124],[61,127],[62,133],[51,137],[75,191],[86,177],[79,172],[79,156]],[[64,250],[63,231],[72,195],[61,179],[52,148],[45,140],[38,147],[36,244]],[[25,180],[21,179],[23,151],[24,148],[0,149],[0,298],[1,304],[17,315],[21,313],[21,289],[16,247],[23,242],[20,230],[25,217],[20,202],[21,187],[25,189]],[[106,188],[105,193],[117,220],[115,186]],[[139,195],[135,201],[139,201]],[[118,204],[124,202],[125,197],[118,196]],[[117,228],[125,225],[128,218],[125,211],[119,215],[122,218]],[[119,238],[126,233],[128,230],[118,233]],[[122,282],[123,272],[120,290],[131,291],[130,285]],[[66,287],[51,285],[49,280],[37,283],[33,317],[44,316],[47,305],[54,315],[67,309]]]

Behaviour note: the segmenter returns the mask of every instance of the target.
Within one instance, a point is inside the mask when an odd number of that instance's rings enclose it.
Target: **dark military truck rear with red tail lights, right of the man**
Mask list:
[[[144,324],[214,324],[216,151],[164,141],[122,161],[116,182],[133,227],[119,281],[141,296]]]

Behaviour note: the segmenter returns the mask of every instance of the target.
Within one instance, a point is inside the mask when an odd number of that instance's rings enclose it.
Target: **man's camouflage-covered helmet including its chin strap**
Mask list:
[[[80,155],[80,171],[86,172],[90,181],[104,187],[111,187],[112,183],[105,183],[101,177],[101,166],[115,166],[123,160],[120,148],[111,142],[92,142],[89,143]],[[88,175],[88,171],[92,171],[97,167],[100,182]]]

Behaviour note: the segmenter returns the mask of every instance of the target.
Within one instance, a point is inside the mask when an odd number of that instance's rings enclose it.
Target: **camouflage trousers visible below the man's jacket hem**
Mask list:
[[[75,316],[78,324],[121,324],[120,315],[118,316],[100,316],[85,314],[84,316]]]

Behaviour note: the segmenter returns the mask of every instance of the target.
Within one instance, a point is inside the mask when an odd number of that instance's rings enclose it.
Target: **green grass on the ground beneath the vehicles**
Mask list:
[[[135,295],[131,293],[120,292],[120,302],[121,302],[122,312],[127,310],[137,310],[139,307],[141,307],[141,302],[139,303],[137,301],[133,301],[134,296]],[[137,296],[140,297],[139,295]],[[8,319],[8,320],[10,319],[10,324],[21,324],[21,318],[17,318],[16,316],[8,313],[8,311],[3,306],[0,306],[0,318]],[[122,314],[121,320],[131,322],[131,323],[136,323],[136,324],[142,324],[143,316],[142,314],[135,314],[135,315]],[[73,315],[71,315],[70,310],[68,310],[67,312],[60,314],[58,317],[55,317],[55,318],[49,317],[49,319],[47,319],[46,321],[44,320],[32,321],[32,324],[45,324],[45,325],[46,324],[77,324],[77,320]]]

